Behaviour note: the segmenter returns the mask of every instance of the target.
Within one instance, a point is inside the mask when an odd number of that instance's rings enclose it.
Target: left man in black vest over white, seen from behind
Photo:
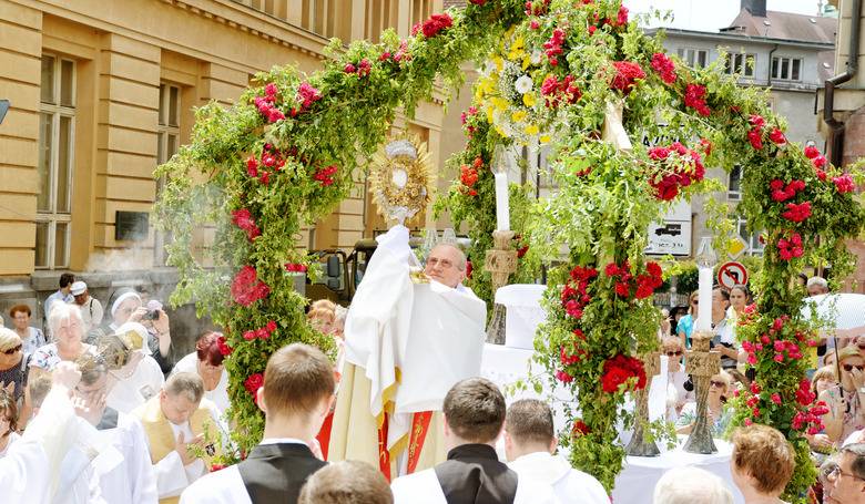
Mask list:
[[[296,503],[306,479],[327,465],[309,444],[330,412],[334,387],[334,369],[320,350],[302,343],[277,350],[257,393],[264,439],[240,464],[186,488],[181,504]]]

